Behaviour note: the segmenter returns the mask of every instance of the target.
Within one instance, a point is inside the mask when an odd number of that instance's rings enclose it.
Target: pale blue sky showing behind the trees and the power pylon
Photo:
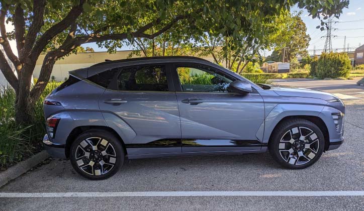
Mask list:
[[[298,11],[297,7],[292,8],[291,11]],[[310,35],[311,41],[308,47],[309,54],[313,54],[313,49],[316,51],[323,49],[325,46],[325,36],[327,31],[320,31],[316,29],[316,26],[320,25],[318,19],[312,19],[308,16],[308,12],[303,10],[301,15],[303,22],[307,27],[307,34]],[[334,30],[336,29],[336,30]],[[332,48],[343,48],[344,36],[346,36],[346,44],[349,44],[350,48],[357,48],[360,44],[364,44],[364,0],[350,0],[349,8],[344,8],[343,13],[339,19],[334,18],[332,23]],[[324,36],[324,37],[322,37]],[[95,51],[107,51],[106,48],[99,48],[96,43],[84,44],[83,47],[92,47]],[[118,50],[131,50],[130,47],[123,47]],[[271,51],[266,51],[266,55],[269,55]]]

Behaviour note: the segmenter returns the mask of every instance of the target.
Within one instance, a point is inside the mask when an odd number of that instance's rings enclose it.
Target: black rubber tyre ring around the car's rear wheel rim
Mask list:
[[[87,174],[86,172],[82,171],[76,163],[75,153],[76,153],[77,146],[83,140],[85,140],[86,138],[90,138],[90,137],[100,137],[100,138],[106,139],[108,142],[110,142],[110,144],[112,144],[112,146],[115,149],[115,153],[116,153],[115,165],[114,165],[113,169],[111,169],[111,171],[109,171],[106,174],[99,175],[99,176]],[[125,154],[124,154],[123,146],[121,145],[119,139],[108,132],[98,131],[98,130],[86,131],[86,132],[80,134],[72,143],[71,149],[70,149],[70,155],[69,155],[69,158],[70,158],[70,161],[71,161],[71,164],[72,164],[74,170],[77,173],[79,173],[81,176],[83,176],[87,179],[92,179],[92,180],[102,180],[102,179],[106,179],[106,178],[113,176],[115,173],[117,173],[119,171],[119,169],[123,165],[124,157],[125,157]]]

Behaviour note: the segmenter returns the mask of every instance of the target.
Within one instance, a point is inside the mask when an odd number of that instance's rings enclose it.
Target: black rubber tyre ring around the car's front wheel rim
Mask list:
[[[315,157],[309,161],[308,163],[302,164],[302,165],[292,165],[289,164],[287,161],[285,161],[282,157],[281,157],[281,153],[279,152],[279,143],[281,141],[281,138],[283,137],[283,135],[290,129],[292,128],[297,128],[297,127],[306,127],[309,128],[310,130],[312,130],[314,133],[316,133],[317,137],[318,137],[318,141],[319,141],[319,149],[317,150],[317,153],[315,155]],[[325,147],[325,139],[324,136],[322,134],[322,131],[320,130],[319,127],[317,127],[315,124],[311,123],[311,122],[296,122],[294,124],[289,124],[286,126],[283,126],[282,128],[279,129],[280,131],[277,132],[276,134],[274,134],[274,136],[272,137],[272,140],[269,141],[269,152],[273,155],[273,157],[275,158],[275,160],[280,163],[282,166],[286,167],[286,168],[290,168],[290,169],[303,169],[306,167],[309,167],[311,165],[313,165],[322,155],[323,151],[324,151],[324,147]]]

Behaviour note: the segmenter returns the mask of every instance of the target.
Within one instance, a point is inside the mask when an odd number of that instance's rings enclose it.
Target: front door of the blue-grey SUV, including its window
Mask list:
[[[256,92],[230,93],[233,76],[207,65],[175,64],[182,152],[260,150],[264,103]]]

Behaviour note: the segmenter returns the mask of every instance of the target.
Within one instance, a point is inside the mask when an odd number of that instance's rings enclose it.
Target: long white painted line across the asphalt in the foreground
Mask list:
[[[16,197],[128,197],[128,196],[364,196],[364,191],[146,191],[146,192],[0,192],[0,198]]]

